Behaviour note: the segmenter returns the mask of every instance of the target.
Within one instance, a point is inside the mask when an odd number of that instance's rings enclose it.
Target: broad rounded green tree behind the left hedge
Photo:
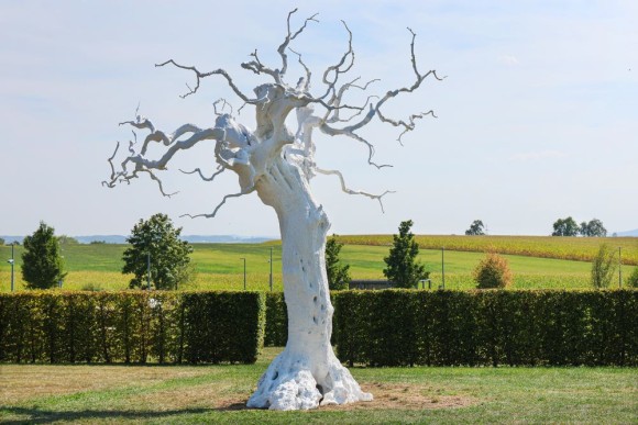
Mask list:
[[[131,288],[147,289],[147,256],[151,254],[151,284],[155,289],[177,289],[188,281],[190,253],[193,247],[179,235],[182,227],[175,228],[165,214],[155,214],[148,220],[140,220],[131,231],[124,250],[123,273],[133,273]]]

